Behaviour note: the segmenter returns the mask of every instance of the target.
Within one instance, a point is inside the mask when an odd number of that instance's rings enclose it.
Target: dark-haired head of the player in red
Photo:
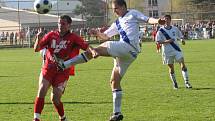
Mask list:
[[[72,19],[68,15],[61,15],[58,19],[59,32],[65,33],[70,30]]]

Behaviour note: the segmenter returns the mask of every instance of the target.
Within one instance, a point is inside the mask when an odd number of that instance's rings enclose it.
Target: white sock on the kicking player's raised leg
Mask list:
[[[69,68],[72,65],[76,65],[76,64],[80,64],[80,63],[86,63],[88,60],[89,59],[87,58],[87,56],[84,53],[81,53],[81,54],[75,56],[74,58],[65,61],[64,66],[66,68]]]

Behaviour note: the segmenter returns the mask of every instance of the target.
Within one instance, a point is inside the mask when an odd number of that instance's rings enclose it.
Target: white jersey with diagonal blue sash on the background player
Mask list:
[[[179,43],[177,42],[177,39],[183,38],[183,35],[177,27],[171,26],[170,29],[161,27],[160,29],[163,29],[169,35],[169,37],[171,39],[174,39],[175,40],[174,44],[179,47]],[[163,42],[163,41],[167,40],[166,37],[164,36],[164,34],[160,31],[160,29],[158,30],[158,32],[156,34],[156,42]],[[162,53],[164,55],[173,56],[175,51],[177,51],[177,50],[170,43],[162,44]]]

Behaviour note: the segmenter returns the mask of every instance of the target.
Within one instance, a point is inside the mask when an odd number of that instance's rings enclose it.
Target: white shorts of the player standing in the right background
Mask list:
[[[174,62],[182,62],[183,54],[182,52],[175,51],[171,55],[163,54],[163,64],[174,64]]]

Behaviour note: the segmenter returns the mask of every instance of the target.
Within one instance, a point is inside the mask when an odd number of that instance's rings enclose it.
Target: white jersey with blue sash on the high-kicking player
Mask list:
[[[129,43],[135,47],[136,49],[140,49],[139,47],[139,22],[144,21],[148,22],[149,17],[145,16],[143,13],[137,10],[129,10],[124,16],[119,17],[118,21],[122,28],[122,30],[126,33],[127,38],[129,39]],[[105,32],[108,37],[112,37],[114,35],[120,34],[117,23],[114,22]],[[122,35],[120,34],[120,41],[123,40]]]

